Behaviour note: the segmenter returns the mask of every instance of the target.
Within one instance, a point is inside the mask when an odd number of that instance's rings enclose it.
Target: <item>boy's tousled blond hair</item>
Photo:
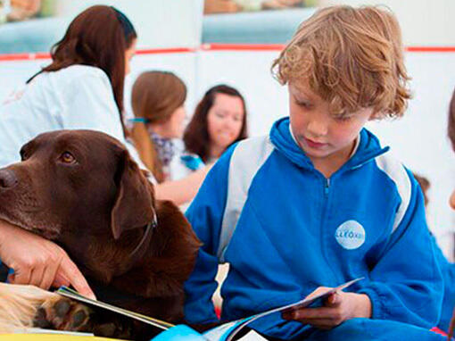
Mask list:
[[[372,107],[400,117],[410,98],[401,30],[375,6],[332,6],[303,21],[272,65],[281,84],[305,82],[337,116]]]

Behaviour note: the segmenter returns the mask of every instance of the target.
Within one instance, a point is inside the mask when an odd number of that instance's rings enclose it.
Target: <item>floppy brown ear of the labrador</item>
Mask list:
[[[112,235],[143,228],[155,219],[153,187],[126,150],[120,155],[117,197],[111,213]]]

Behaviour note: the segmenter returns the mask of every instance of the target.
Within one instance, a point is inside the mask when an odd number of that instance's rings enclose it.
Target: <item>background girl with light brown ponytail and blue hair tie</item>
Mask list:
[[[174,73],[146,71],[135,81],[131,94],[135,115],[131,137],[145,166],[158,183],[182,179],[203,162],[183,155],[186,86]]]

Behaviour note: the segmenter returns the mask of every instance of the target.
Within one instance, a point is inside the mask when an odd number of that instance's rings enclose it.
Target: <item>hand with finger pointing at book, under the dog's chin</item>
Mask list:
[[[49,287],[72,286],[95,298],[87,280],[66,252],[53,242],[0,220],[0,259],[14,269],[14,284]]]

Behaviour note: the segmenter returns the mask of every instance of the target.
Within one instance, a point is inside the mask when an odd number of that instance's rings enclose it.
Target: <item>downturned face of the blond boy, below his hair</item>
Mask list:
[[[366,108],[334,117],[329,104],[302,83],[289,84],[289,110],[294,137],[312,162],[347,161],[360,129],[373,113]]]

